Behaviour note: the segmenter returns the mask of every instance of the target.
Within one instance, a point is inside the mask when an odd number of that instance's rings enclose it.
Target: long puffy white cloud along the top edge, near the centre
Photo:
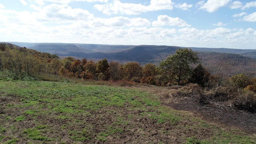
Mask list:
[[[141,14],[142,12],[156,11],[156,10],[172,10],[174,3],[171,0],[151,0],[150,5],[122,3],[119,0],[114,0],[107,4],[95,4],[94,8],[103,12],[104,14]]]

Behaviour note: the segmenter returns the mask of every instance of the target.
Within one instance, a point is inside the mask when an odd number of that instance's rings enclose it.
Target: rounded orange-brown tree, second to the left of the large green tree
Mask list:
[[[126,80],[140,82],[142,67],[138,62],[128,62],[124,65]]]

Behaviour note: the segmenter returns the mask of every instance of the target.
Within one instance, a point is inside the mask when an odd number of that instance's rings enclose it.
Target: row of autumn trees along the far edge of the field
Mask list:
[[[56,54],[1,43],[0,72],[2,78],[21,80],[59,76],[83,80],[125,80],[157,86],[197,83],[202,87],[214,87],[222,84],[220,72],[210,74],[202,66],[197,52],[193,52],[190,48],[176,50],[175,54],[160,62],[159,66],[151,63],[140,66],[138,62],[126,64],[108,62],[106,58],[98,62],[74,57],[60,59]],[[256,91],[254,79],[242,74],[242,76],[233,76],[230,80],[238,87],[249,86],[248,90]]]

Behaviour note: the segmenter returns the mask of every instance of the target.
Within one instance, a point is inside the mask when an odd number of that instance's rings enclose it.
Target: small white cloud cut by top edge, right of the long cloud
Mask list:
[[[202,4],[199,9],[206,10],[207,12],[215,12],[219,8],[226,6],[230,1],[231,0],[208,0],[206,3]]]

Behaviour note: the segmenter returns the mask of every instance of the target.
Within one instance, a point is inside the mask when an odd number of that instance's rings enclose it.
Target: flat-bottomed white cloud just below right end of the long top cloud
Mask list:
[[[167,15],[160,15],[157,17],[157,21],[152,22],[152,26],[155,26],[155,27],[164,26],[164,25],[178,26],[178,27],[191,26],[180,18],[172,18]]]

